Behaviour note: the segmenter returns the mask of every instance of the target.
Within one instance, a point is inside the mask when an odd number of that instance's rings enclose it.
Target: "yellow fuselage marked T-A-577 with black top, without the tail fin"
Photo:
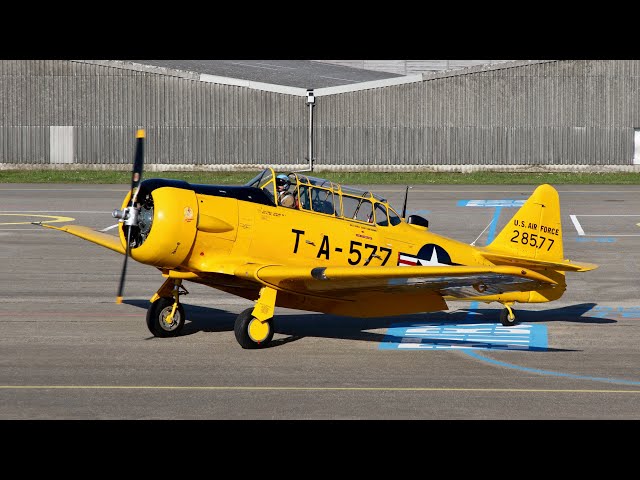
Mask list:
[[[149,195],[153,199],[150,208],[141,210],[141,216],[149,218],[149,225],[140,228],[132,257],[164,273],[193,272],[191,278],[185,278],[251,300],[257,298],[262,285],[234,276],[243,263],[310,268],[493,265],[472,245],[407,223],[385,199],[369,192],[312,177],[296,175],[296,179],[299,208],[277,205],[272,171],[240,187],[147,180],[141,185],[139,198],[142,202]],[[125,198],[123,205],[128,201]],[[124,240],[124,228],[120,234]],[[376,295],[379,302],[372,302],[364,293],[352,300],[361,304],[360,309],[371,305],[366,316],[383,310],[390,314],[442,309],[442,302],[425,304],[416,292],[406,292],[405,298],[394,294],[396,307],[385,306],[384,292]],[[483,295],[469,289],[457,292],[455,298],[487,302],[549,300],[548,296],[535,299],[535,295],[520,291]],[[277,305],[336,312],[330,295],[312,292],[281,291]]]

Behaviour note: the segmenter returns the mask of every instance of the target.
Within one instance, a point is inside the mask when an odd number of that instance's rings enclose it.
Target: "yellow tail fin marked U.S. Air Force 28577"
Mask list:
[[[560,197],[556,189],[548,184],[536,188],[486,251],[542,262],[563,262]]]

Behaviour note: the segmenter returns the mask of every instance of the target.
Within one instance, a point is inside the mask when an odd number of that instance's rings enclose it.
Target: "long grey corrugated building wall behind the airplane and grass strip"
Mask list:
[[[0,60],[0,168],[128,169],[144,128],[151,170],[300,168],[311,153],[327,170],[636,171],[639,78],[637,60],[516,61],[317,89],[309,108],[303,89]]]

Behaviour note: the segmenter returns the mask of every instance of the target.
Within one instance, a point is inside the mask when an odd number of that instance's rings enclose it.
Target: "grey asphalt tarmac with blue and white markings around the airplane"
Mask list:
[[[556,188],[565,257],[599,268],[569,272],[558,301],[516,304],[516,330],[500,329],[498,304],[379,319],[276,309],[273,345],[244,350],[233,322],[251,302],[187,282],[184,335],[155,338],[157,270],[130,261],[116,304],[121,255],[30,223],[108,227],[128,186],[3,184],[0,419],[638,420],[640,187]],[[402,210],[404,186],[371,189]],[[484,245],[533,189],[414,186],[408,211]]]

